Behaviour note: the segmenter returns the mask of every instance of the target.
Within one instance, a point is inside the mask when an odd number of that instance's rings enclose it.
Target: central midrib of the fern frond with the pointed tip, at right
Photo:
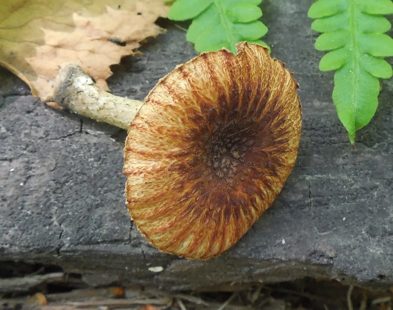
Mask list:
[[[352,47],[353,47],[353,105],[354,105],[354,114],[358,109],[358,96],[359,96],[359,76],[360,76],[360,52],[359,52],[359,41],[358,41],[358,23],[356,20],[356,1],[357,0],[349,0],[349,25],[351,28],[351,39],[352,39]],[[356,124],[354,124],[354,129],[356,130]]]

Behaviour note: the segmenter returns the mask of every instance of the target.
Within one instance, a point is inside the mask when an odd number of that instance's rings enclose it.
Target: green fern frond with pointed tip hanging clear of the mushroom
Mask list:
[[[320,70],[337,70],[332,98],[337,114],[354,143],[355,132],[367,125],[378,106],[378,78],[391,78],[383,57],[393,56],[393,39],[386,35],[393,13],[391,0],[318,0],[308,15],[314,31],[322,32],[315,48],[330,51]]]

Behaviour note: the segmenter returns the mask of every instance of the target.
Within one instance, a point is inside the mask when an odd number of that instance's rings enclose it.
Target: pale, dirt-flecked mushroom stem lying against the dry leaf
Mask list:
[[[80,66],[71,63],[60,67],[53,93],[51,99],[62,108],[125,130],[143,105],[99,89]]]

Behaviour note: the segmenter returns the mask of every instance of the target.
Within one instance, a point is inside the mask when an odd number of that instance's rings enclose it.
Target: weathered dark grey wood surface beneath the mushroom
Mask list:
[[[159,253],[132,225],[121,173],[125,131],[51,109],[2,69],[0,261],[54,264],[91,285],[172,290],[305,276],[392,285],[393,83],[382,80],[376,115],[351,146],[331,100],[333,73],[318,69],[323,53],[314,49],[307,17],[312,2],[262,5],[264,39],[300,84],[298,161],[272,207],[213,260]],[[184,31],[172,23],[167,29],[143,55],[114,66],[114,94],[143,100],[159,78],[196,55]]]

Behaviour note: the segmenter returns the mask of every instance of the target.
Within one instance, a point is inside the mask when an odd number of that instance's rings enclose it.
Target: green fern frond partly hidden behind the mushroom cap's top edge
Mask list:
[[[186,39],[195,44],[197,52],[227,48],[236,54],[236,44],[242,41],[268,47],[260,40],[268,28],[258,19],[262,0],[175,0],[169,9],[169,19],[193,19]],[[269,48],[269,47],[268,47]],[[270,51],[270,48],[269,48]]]

